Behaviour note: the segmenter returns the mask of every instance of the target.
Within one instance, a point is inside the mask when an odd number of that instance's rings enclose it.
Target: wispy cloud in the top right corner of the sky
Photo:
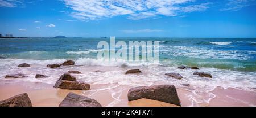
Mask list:
[[[226,0],[224,8],[221,8],[220,11],[238,11],[243,7],[256,5],[256,0]]]

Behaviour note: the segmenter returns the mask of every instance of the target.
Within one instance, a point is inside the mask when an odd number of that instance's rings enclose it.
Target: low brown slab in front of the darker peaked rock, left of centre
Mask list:
[[[90,89],[90,85],[86,82],[67,81],[67,80],[58,80],[53,87],[60,88],[60,89],[69,89],[69,90],[89,90]]]

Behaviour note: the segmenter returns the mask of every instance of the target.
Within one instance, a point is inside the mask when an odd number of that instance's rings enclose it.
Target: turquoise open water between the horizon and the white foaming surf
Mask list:
[[[98,51],[102,51],[97,49],[100,41],[110,38],[0,39],[0,56],[30,60],[96,59]],[[115,41],[160,41],[159,60],[164,66],[256,71],[256,38],[115,38]],[[93,65],[83,63],[86,64]]]

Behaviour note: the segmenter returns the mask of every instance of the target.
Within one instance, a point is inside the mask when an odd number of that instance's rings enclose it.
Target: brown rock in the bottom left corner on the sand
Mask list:
[[[23,93],[0,101],[0,107],[32,107],[32,103],[27,93]]]

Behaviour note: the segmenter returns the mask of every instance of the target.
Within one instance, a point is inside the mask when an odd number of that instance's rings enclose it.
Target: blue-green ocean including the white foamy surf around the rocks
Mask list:
[[[81,81],[90,84],[141,86],[155,84],[191,84],[187,90],[192,103],[209,102],[216,97],[210,91],[218,86],[255,90],[256,88],[256,38],[115,38],[115,41],[159,41],[159,63],[124,60],[106,62],[97,59],[100,41],[110,38],[12,38],[0,39],[0,79],[10,73],[24,73],[18,80],[55,84],[61,74],[69,70],[81,71]],[[76,61],[76,67],[46,68],[47,64],[60,64],[65,60]],[[29,68],[18,68],[28,63]],[[211,73],[213,78],[193,75],[195,70],[178,69],[177,66],[197,66],[200,71]],[[125,75],[131,68],[142,70],[141,75]],[[95,73],[96,70],[103,72]],[[184,78],[175,80],[164,73],[177,72]],[[36,79],[36,73],[51,77]],[[117,86],[116,86],[117,84]],[[108,89],[108,88],[106,88]],[[118,91],[116,91],[118,93]],[[195,106],[195,104],[193,105]]]

